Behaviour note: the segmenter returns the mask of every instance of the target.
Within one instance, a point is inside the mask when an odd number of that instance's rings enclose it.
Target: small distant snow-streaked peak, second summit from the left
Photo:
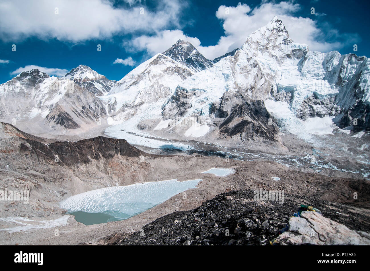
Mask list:
[[[74,81],[75,84],[79,85],[81,88],[85,88],[97,96],[107,94],[117,83],[117,81],[109,80],[104,75],[98,74],[85,65],[79,65],[62,78]]]

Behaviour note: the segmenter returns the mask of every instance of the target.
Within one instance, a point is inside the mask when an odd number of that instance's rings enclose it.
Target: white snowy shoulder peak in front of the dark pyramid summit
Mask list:
[[[163,54],[157,54],[117,82],[103,97],[107,111],[115,120],[138,114],[140,109],[158,104],[171,95],[179,82],[193,75],[186,66]]]

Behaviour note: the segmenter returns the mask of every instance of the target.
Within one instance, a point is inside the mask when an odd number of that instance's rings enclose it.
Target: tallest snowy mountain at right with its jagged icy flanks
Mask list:
[[[164,104],[163,119],[195,116],[209,126],[216,124],[221,134],[231,136],[239,131],[242,138],[250,138],[250,132],[243,132],[253,131],[245,127],[251,119],[256,119],[255,135],[276,138],[275,127],[265,125],[266,119],[274,117],[278,123],[289,122],[285,126],[290,128],[303,126],[306,119],[315,117],[336,117],[334,121],[340,127],[350,126],[357,118],[352,129],[362,130],[369,129],[369,96],[366,57],[309,51],[306,44],[293,42],[275,16],[250,34],[240,50],[226,54],[209,69],[181,82]],[[249,107],[259,104],[258,110],[264,112],[266,103],[261,101],[269,101],[268,114],[262,114],[262,120],[256,107]],[[279,102],[286,105],[288,115],[277,114],[282,104],[274,103]],[[231,114],[224,114],[223,107]],[[220,118],[232,116],[233,121],[226,121],[232,126],[225,129],[225,121]],[[299,129],[290,129],[294,130]]]

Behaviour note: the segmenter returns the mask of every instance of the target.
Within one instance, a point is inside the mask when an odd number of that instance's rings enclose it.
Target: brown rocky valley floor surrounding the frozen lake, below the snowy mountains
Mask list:
[[[250,201],[254,190],[260,189],[284,190],[286,201],[281,204],[248,203],[257,204],[260,214],[268,206],[273,210],[281,209],[281,212],[276,211],[278,223],[268,222],[272,230],[253,239],[253,244],[272,241],[277,229],[287,223],[300,204],[313,204],[333,221],[352,230],[370,232],[368,134],[353,138],[334,131],[316,144],[303,142],[292,134],[282,134],[279,146],[259,142],[262,147],[257,146],[258,142],[255,145],[233,142],[223,147],[217,142],[189,141],[192,149],[181,151],[148,146],[135,148],[124,139],[103,136],[53,142],[24,133],[7,123],[1,123],[0,128],[0,189],[30,191],[28,204],[0,201],[0,244],[118,244],[121,240],[127,240],[128,244],[144,244],[148,240],[137,238],[137,233],[148,223],[166,216],[150,224],[156,225],[154,229],[164,227],[166,232],[171,228],[168,223],[181,220],[174,212],[187,211],[198,216],[199,210],[191,210],[212,199],[213,203],[227,207],[230,203],[223,201],[223,197],[233,197],[235,193],[239,196],[233,204],[238,209],[243,201]],[[235,173],[224,177],[202,174],[213,167],[234,169]],[[127,220],[85,226],[58,205],[70,196],[103,187],[171,179],[202,181],[195,189],[186,190],[186,197],[183,193],[176,194]],[[238,190],[241,191],[235,192]],[[265,212],[267,216],[272,215],[271,210]],[[239,216],[238,213],[235,215]],[[149,231],[158,235],[154,230]],[[162,241],[171,243],[170,239]],[[226,241],[214,243],[225,244]],[[240,244],[248,243],[245,241]],[[198,244],[200,241],[192,239],[191,242]]]

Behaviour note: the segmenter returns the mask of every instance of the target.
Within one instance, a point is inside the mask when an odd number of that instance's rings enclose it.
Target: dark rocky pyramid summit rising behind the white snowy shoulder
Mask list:
[[[171,48],[162,54],[185,65],[194,73],[203,71],[212,67],[212,62],[206,59],[196,48],[188,41],[178,40]]]

